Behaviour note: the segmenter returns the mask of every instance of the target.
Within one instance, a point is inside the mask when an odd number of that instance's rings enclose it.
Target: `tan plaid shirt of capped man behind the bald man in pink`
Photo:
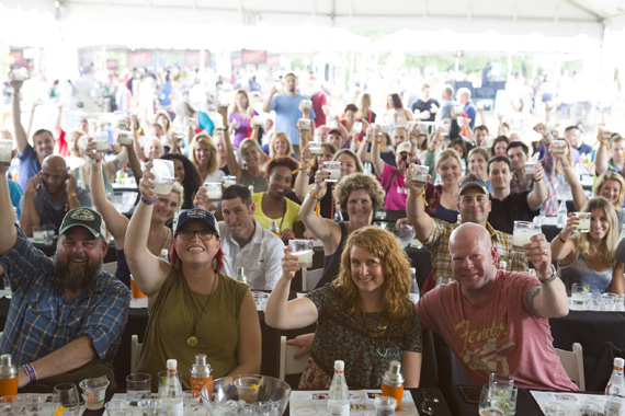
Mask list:
[[[450,235],[459,223],[448,223],[436,218],[432,219],[432,233],[423,245],[432,255],[432,269],[434,281],[439,276],[453,277],[452,259],[450,258]],[[497,247],[497,256],[499,261],[508,263],[510,271],[525,271],[527,269],[527,258],[523,253],[512,249],[512,235],[495,230],[490,224],[486,223],[486,229],[490,234],[492,245]],[[499,263],[498,261],[498,263]]]

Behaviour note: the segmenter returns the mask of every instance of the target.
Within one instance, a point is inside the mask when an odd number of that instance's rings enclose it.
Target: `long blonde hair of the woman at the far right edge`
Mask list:
[[[616,263],[614,258],[614,252],[618,245],[618,235],[621,233],[621,230],[618,230],[616,211],[614,210],[614,206],[602,196],[590,198],[581,210],[582,212],[590,212],[593,209],[603,209],[603,212],[605,212],[605,217],[607,218],[607,223],[610,224],[607,233],[601,242],[600,249],[596,251],[596,253],[592,253],[590,251],[590,240],[588,239],[588,232],[578,232],[573,234],[571,239],[575,241],[578,250],[581,252],[584,258],[601,259],[603,257],[610,265],[614,265]]]

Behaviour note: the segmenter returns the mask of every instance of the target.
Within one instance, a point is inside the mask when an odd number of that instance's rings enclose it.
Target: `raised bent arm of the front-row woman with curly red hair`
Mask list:
[[[266,302],[264,320],[269,326],[277,330],[296,330],[317,322],[318,312],[315,303],[308,298],[288,301],[291,280],[299,269],[297,257],[291,255],[292,247],[284,249],[282,259],[282,277],[271,292]]]

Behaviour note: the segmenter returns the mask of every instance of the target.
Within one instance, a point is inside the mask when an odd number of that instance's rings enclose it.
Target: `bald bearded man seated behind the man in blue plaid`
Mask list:
[[[44,159],[42,171],[29,180],[20,206],[22,230],[33,236],[36,226],[47,226],[57,232],[67,211],[91,207],[93,200],[89,192],[76,185],[76,177],[67,171],[65,159],[52,154]]]

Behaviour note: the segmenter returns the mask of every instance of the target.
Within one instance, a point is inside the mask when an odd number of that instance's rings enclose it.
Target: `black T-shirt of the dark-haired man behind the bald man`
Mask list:
[[[541,210],[530,209],[527,195],[530,195],[530,190],[518,194],[510,193],[503,200],[496,199],[491,195],[490,203],[492,206],[488,215],[488,223],[496,230],[512,234],[514,221],[531,222],[534,217],[541,213]]]

